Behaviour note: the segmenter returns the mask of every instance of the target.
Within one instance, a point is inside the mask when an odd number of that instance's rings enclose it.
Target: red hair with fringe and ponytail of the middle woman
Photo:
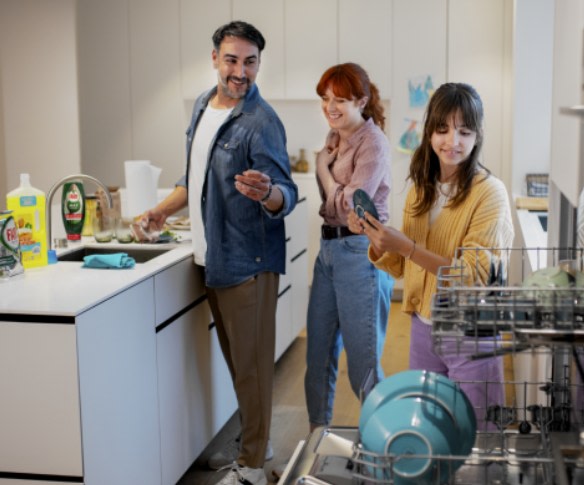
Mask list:
[[[361,99],[367,96],[367,104],[363,108],[363,118],[366,120],[373,118],[373,123],[382,130],[385,128],[385,116],[383,115],[379,90],[361,66],[348,62],[329,67],[316,85],[316,92],[322,97],[329,87],[339,98]]]

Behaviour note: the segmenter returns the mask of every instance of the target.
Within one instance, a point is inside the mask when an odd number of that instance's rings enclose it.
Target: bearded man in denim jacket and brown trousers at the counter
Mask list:
[[[189,206],[195,263],[231,372],[241,418],[239,456],[219,482],[267,483],[276,301],[285,270],[284,216],[296,205],[284,127],[255,85],[262,34],[231,22],[213,34],[217,86],[195,102],[187,169],[143,219],[160,229]]]

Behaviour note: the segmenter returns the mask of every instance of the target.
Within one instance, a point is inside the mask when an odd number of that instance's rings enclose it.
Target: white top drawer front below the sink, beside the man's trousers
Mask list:
[[[203,270],[188,257],[154,276],[155,325],[205,294]]]

